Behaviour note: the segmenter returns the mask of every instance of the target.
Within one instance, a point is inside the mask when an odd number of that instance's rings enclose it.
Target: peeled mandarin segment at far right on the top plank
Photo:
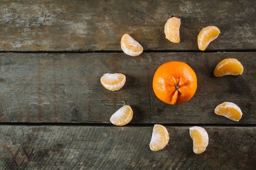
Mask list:
[[[198,34],[198,48],[204,51],[207,46],[215,40],[220,34],[217,26],[207,26],[203,28]]]

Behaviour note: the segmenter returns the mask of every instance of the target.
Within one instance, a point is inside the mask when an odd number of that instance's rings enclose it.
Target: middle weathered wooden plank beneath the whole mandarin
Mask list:
[[[110,122],[123,105],[134,110],[131,123],[255,124],[256,53],[0,53],[1,122]],[[244,66],[239,76],[214,77],[224,58]],[[161,102],[152,89],[155,70],[168,61],[189,64],[198,89],[185,104]],[[104,73],[123,73],[126,84],[108,91],[100,83]],[[215,115],[222,102],[243,111],[239,122]]]

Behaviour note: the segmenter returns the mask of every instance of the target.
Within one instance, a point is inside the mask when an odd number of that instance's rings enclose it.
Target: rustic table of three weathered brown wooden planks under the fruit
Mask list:
[[[181,18],[178,44],[164,35],[171,16]],[[199,31],[218,26],[219,37],[202,52]],[[121,51],[130,34],[138,57]],[[255,170],[255,0],[55,0],[0,2],[0,170]],[[214,77],[220,60],[237,58],[239,76]],[[189,64],[198,89],[185,104],[155,96],[155,70],[168,61]],[[104,73],[127,77],[120,91],[100,83]],[[110,116],[129,104],[134,117],[117,127]],[[234,102],[240,121],[214,108]],[[170,141],[153,152],[154,124]],[[189,127],[209,134],[195,155]]]

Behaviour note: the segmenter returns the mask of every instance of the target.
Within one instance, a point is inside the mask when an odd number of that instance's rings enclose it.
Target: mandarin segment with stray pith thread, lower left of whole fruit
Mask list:
[[[128,124],[133,117],[132,108],[129,105],[119,108],[111,117],[110,122],[116,126],[124,126]]]

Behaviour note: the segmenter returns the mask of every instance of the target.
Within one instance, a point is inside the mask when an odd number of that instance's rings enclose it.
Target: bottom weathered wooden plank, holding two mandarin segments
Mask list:
[[[202,126],[204,127],[204,126]],[[1,169],[148,170],[232,169],[256,167],[255,127],[204,127],[207,151],[195,155],[189,127],[166,126],[170,140],[153,152],[153,127],[0,126]]]

